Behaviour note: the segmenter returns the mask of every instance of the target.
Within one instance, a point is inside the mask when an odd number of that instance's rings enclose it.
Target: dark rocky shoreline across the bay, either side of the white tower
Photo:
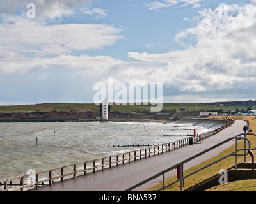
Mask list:
[[[0,122],[92,122],[99,119],[99,111],[85,110],[51,110],[0,112]],[[108,121],[116,122],[166,122],[170,117],[155,117],[147,113],[110,112]]]

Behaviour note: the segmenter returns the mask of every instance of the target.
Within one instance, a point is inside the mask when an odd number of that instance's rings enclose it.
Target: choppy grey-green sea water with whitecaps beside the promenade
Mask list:
[[[200,134],[211,127],[175,122],[0,123],[0,179],[24,175],[29,169],[49,170],[135,148],[113,145],[173,142],[186,136],[170,135],[193,134],[193,129]]]

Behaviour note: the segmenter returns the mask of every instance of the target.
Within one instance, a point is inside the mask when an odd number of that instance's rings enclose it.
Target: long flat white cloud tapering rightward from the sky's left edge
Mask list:
[[[0,69],[15,71],[8,66],[23,58],[68,55],[77,51],[100,49],[113,45],[123,37],[121,29],[103,24],[45,25],[22,17],[8,16],[0,24]],[[19,62],[20,63],[20,62]],[[22,63],[21,63],[22,64]],[[12,67],[12,69],[10,69]],[[17,67],[20,67],[19,64]]]

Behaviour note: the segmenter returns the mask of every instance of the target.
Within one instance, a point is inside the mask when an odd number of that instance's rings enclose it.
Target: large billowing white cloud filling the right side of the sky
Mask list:
[[[256,80],[256,6],[234,4],[227,8],[227,18],[220,18],[221,8],[202,10],[195,27],[177,33],[175,40],[184,50],[129,52],[128,56],[145,62],[143,73],[149,74],[148,64],[157,63],[151,74],[181,92],[232,90],[237,84],[243,87],[247,80]]]

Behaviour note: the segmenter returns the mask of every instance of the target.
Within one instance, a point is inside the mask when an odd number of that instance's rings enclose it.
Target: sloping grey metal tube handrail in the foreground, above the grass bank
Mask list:
[[[241,135],[244,135],[244,138],[238,138],[238,137],[241,136]],[[143,185],[143,184],[146,184],[147,182],[150,182],[150,180],[156,179],[157,177],[159,177],[159,176],[161,176],[161,175],[163,175],[163,178],[164,178],[164,174],[165,174],[165,173],[167,173],[168,171],[171,171],[171,170],[173,170],[173,169],[175,169],[175,168],[178,168],[178,167],[181,167],[181,168],[180,168],[180,175],[181,175],[180,179],[177,179],[177,180],[175,180],[175,182],[172,182],[171,184],[168,184],[168,185],[166,185],[166,186],[164,185],[161,189],[164,190],[165,187],[168,187],[168,186],[170,186],[170,185],[172,185],[172,184],[174,184],[174,183],[180,181],[180,191],[182,191],[182,184],[181,184],[181,182],[182,182],[182,180],[183,180],[184,178],[189,177],[190,175],[193,175],[194,173],[196,173],[196,172],[198,172],[198,171],[200,171],[200,170],[202,170],[202,169],[204,169],[204,168],[207,168],[208,166],[211,166],[212,164],[217,163],[217,162],[219,162],[219,161],[221,161],[221,160],[223,160],[223,159],[225,159],[226,157],[229,157],[229,156],[235,156],[235,157],[236,157],[236,159],[235,159],[235,163],[236,163],[236,164],[235,164],[235,168],[237,168],[237,156],[244,156],[244,154],[237,154],[237,152],[239,152],[239,150],[243,150],[243,149],[237,150],[237,140],[239,140],[239,139],[243,139],[244,141],[247,140],[247,141],[248,141],[248,144],[249,144],[249,145],[248,145],[248,149],[251,149],[251,148],[250,148],[250,145],[251,145],[250,140],[248,140],[248,138],[246,138],[246,135],[254,135],[254,136],[256,136],[256,135],[253,134],[253,133],[245,133],[245,134],[244,134],[244,133],[241,133],[241,134],[239,134],[239,135],[236,135],[236,136],[233,136],[233,137],[228,138],[228,139],[226,139],[226,140],[223,140],[223,142],[220,142],[220,143],[218,143],[218,144],[216,144],[216,145],[213,145],[213,146],[210,147],[209,149],[206,149],[206,150],[204,150],[204,151],[202,151],[202,152],[200,152],[200,153],[198,153],[198,154],[195,154],[194,156],[191,156],[191,157],[189,157],[188,159],[185,159],[184,161],[182,161],[182,162],[180,162],[180,163],[177,163],[177,164],[171,166],[170,168],[167,168],[166,170],[163,170],[163,171],[157,173],[156,175],[153,175],[152,177],[149,177],[148,179],[145,179],[145,180],[139,182],[138,184],[136,184],[136,185],[134,185],[134,186],[132,186],[132,187],[129,187],[128,189],[125,189],[125,191],[131,191],[131,190],[133,190],[133,189],[136,189],[137,187],[139,187],[139,186],[141,186],[141,185]],[[213,163],[208,164],[208,165],[206,165],[206,166],[200,168],[199,170],[196,170],[196,171],[194,171],[194,172],[192,172],[192,173],[189,173],[189,175],[186,175],[185,177],[182,176],[182,166],[183,166],[184,163],[188,163],[189,161],[195,159],[196,157],[201,156],[202,154],[205,154],[206,152],[209,152],[210,150],[215,149],[216,147],[219,147],[220,145],[223,145],[224,143],[227,143],[227,142],[229,142],[230,140],[234,140],[234,139],[236,140],[236,147],[235,147],[236,150],[235,150],[234,152],[228,154],[227,156],[221,157],[221,159],[218,159],[217,161],[214,161]],[[244,144],[245,144],[245,142],[244,142]],[[256,148],[255,148],[255,149],[256,149]],[[244,146],[244,150],[246,150],[246,147],[245,147],[245,146]],[[251,149],[251,150],[254,150],[254,149]],[[249,154],[249,153],[247,153],[247,154]],[[246,154],[246,155],[247,155],[247,154]],[[164,184],[164,182],[163,182],[163,184]],[[157,191],[160,191],[161,189],[158,189]]]

